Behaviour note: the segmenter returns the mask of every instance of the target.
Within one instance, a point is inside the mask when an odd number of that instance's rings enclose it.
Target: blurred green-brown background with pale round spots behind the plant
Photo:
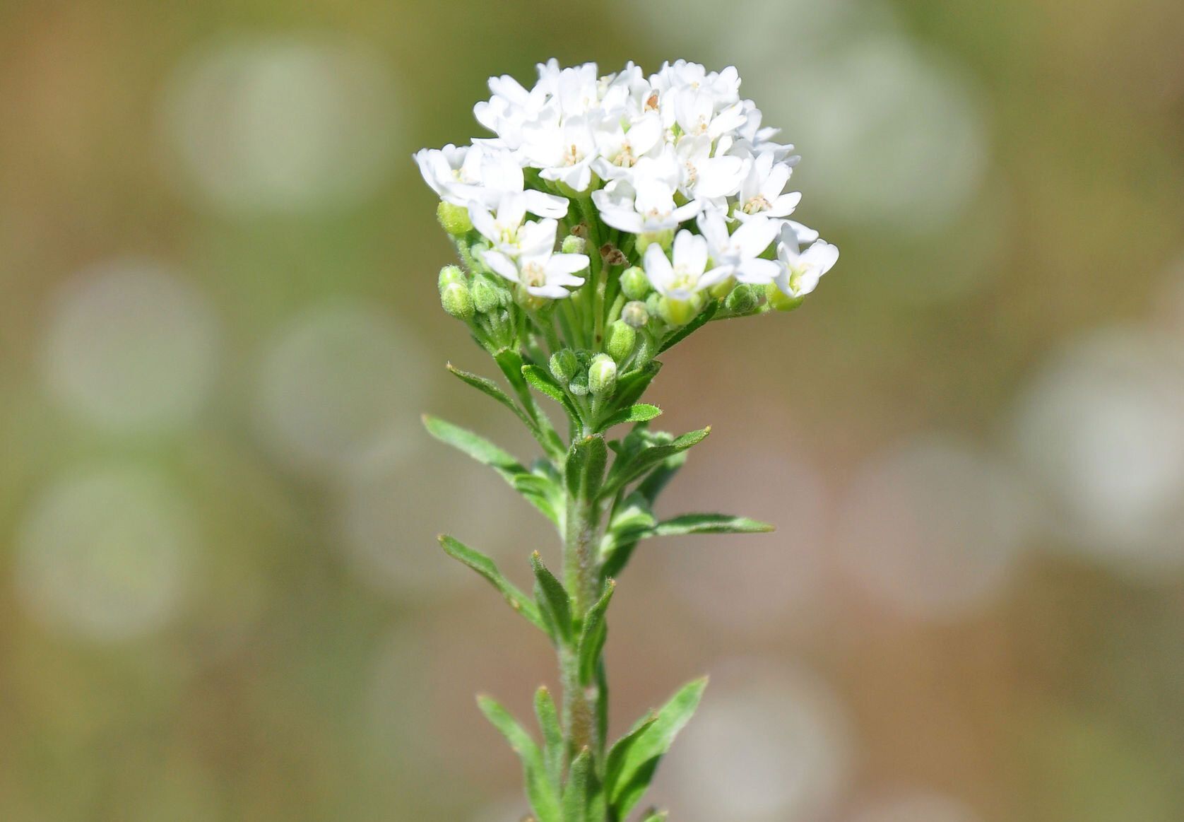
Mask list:
[[[710,423],[614,726],[713,674],[678,822],[1184,818],[1184,5],[0,4],[0,820],[514,822],[554,685],[450,564],[553,538],[424,410],[422,146],[534,63],[735,64],[843,252],[667,358]]]

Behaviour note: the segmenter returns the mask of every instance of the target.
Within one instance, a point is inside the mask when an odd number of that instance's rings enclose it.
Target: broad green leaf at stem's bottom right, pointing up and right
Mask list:
[[[613,754],[610,752],[605,791],[618,818],[623,818],[642,798],[662,757],[670,750],[674,738],[699,707],[699,700],[706,687],[706,677],[684,685],[618,754],[616,768],[613,768]],[[616,750],[614,745],[613,751]]]

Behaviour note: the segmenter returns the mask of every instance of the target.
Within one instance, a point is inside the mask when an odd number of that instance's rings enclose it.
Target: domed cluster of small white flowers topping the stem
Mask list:
[[[530,89],[508,76],[489,88],[475,114],[495,137],[416,160],[442,200],[468,210],[485,265],[534,296],[584,283],[588,257],[555,253],[556,235],[593,211],[606,230],[635,236],[618,245],[645,250],[632,262],[671,300],[729,278],[802,297],[838,257],[789,219],[802,199],[785,191],[798,158],[740,97],[734,68],[678,60],[645,77],[630,63],[600,77],[594,63],[551,60]]]

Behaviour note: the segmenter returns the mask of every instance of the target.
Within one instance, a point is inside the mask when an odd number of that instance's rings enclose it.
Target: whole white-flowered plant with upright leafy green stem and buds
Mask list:
[[[475,114],[493,136],[416,160],[459,257],[439,274],[440,302],[506,387],[450,371],[514,413],[542,454],[528,464],[443,419],[425,424],[551,520],[562,552],[529,557],[528,595],[476,548],[440,544],[558,653],[562,700],[539,688],[536,734],[478,700],[522,762],[533,818],[623,822],[706,680],[607,738],[603,649],[616,578],[651,537],[770,529],[714,513],[655,516],[658,494],[709,431],[651,425],[661,411],[641,400],[656,358],[709,322],[796,308],[838,251],[790,219],[798,158],[740,97],[735,69],[680,60],[649,77],[632,64],[601,77],[594,64],[552,60],[533,88],[508,76],[489,88]],[[545,406],[566,424],[553,425]]]

